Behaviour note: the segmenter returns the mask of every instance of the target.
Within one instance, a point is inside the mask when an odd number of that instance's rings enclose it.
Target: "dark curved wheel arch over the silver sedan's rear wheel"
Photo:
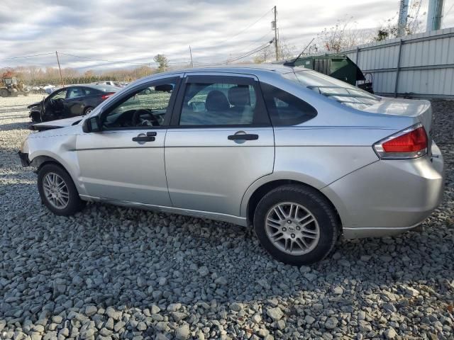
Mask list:
[[[245,217],[248,225],[253,224],[255,208],[257,208],[260,199],[273,189],[278,188],[279,186],[284,186],[286,184],[295,184],[298,186],[311,188],[311,190],[317,191],[321,196],[326,198],[328,203],[331,205],[331,208],[333,208],[333,210],[336,212],[336,215],[338,216],[338,222],[341,226],[340,231],[342,231],[341,216],[339,215],[338,209],[333,204],[332,200],[328,198],[328,196],[326,196],[323,192],[321,192],[320,188],[316,188],[316,186],[314,185],[296,179],[271,179],[270,181],[265,181],[264,183],[260,183],[260,185],[255,186],[254,190],[250,191],[246,202],[244,202],[245,198],[243,198],[243,202],[245,203]]]

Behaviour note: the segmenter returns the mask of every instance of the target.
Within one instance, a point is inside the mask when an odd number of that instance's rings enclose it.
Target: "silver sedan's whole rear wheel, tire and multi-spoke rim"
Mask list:
[[[278,261],[301,266],[324,259],[338,238],[339,223],[326,197],[305,186],[280,186],[258,203],[254,228]]]

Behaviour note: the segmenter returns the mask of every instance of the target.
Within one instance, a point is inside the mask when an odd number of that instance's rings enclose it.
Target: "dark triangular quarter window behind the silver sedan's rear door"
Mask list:
[[[272,125],[297,125],[317,115],[314,107],[270,84],[260,83]]]

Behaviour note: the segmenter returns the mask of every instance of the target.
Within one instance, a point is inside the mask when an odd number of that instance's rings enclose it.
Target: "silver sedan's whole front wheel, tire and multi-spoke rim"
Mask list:
[[[70,216],[84,208],[71,176],[57,164],[45,164],[38,172],[41,200],[55,215]]]

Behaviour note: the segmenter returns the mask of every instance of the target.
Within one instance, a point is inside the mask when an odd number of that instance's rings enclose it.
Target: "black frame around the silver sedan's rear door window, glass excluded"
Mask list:
[[[255,107],[258,108],[263,120],[267,123],[262,124],[218,124],[218,125],[179,125],[179,118],[182,114],[184,94],[189,84],[237,84],[237,85],[250,85],[253,86],[255,91],[256,103]],[[265,115],[265,116],[263,116]],[[265,118],[266,117],[266,118]],[[259,81],[256,77],[249,74],[184,74],[182,84],[179,86],[177,99],[175,102],[172,118],[170,120],[170,129],[213,129],[213,128],[267,128],[270,127],[271,120],[270,115],[267,111],[265,101],[262,95],[262,89],[260,88]]]

